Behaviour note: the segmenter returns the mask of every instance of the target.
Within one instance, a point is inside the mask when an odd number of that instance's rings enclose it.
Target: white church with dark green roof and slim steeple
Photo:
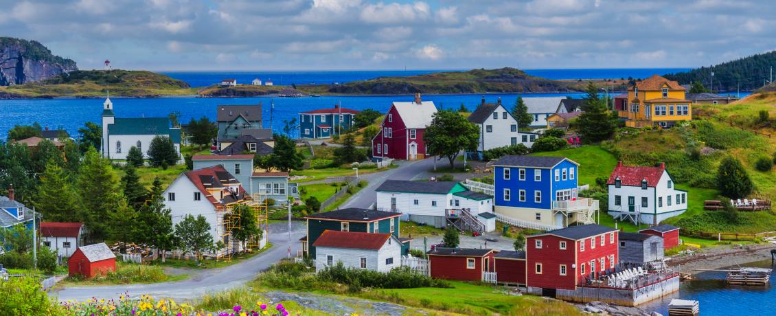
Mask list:
[[[172,127],[168,117],[116,118],[110,98],[102,103],[102,157],[126,159],[130,148],[137,147],[147,158],[151,140],[159,135],[170,137],[180,155],[181,129]]]

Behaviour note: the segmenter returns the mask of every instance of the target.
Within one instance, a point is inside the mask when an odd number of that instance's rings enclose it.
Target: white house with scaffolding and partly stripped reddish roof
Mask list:
[[[171,210],[172,224],[183,221],[186,215],[204,216],[210,224],[214,241],[223,241],[230,252],[239,251],[239,243],[231,241],[224,221],[231,208],[248,203],[251,197],[223,165],[183,172],[165,189],[165,207]],[[225,251],[222,250],[221,252]]]

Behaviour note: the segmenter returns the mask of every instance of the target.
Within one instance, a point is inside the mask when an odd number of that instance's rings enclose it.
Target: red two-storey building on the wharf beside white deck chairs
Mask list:
[[[555,297],[556,289],[577,290],[587,278],[615,267],[618,231],[598,224],[571,226],[528,236],[525,248],[528,292]]]

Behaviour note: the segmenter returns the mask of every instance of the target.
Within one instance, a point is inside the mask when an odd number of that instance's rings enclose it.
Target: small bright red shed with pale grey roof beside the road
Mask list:
[[[68,274],[91,278],[116,271],[116,255],[104,242],[78,247],[68,259]]]

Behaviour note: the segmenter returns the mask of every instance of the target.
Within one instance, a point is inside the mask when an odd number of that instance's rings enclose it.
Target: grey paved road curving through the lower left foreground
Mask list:
[[[305,224],[293,222],[291,228],[292,249],[296,254],[300,247],[299,238],[306,234]],[[59,300],[88,300],[91,297],[118,298],[122,293],[130,293],[133,297],[150,294],[154,297],[171,297],[178,300],[189,300],[202,296],[204,293],[227,290],[253,280],[256,274],[267,269],[272,263],[286,258],[288,249],[287,224],[270,224],[269,242],[272,248],[244,262],[221,269],[197,270],[198,273],[189,280],[169,283],[131,284],[116,286],[77,286],[68,287],[49,293]]]

